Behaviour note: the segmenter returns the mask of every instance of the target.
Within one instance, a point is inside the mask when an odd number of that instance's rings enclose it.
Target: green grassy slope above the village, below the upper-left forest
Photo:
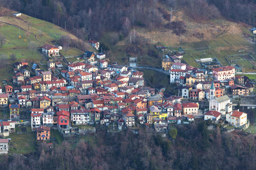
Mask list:
[[[6,43],[0,49],[0,56],[5,54],[9,57],[10,54],[16,54],[16,61],[35,62],[39,65],[39,61],[45,59],[40,53],[40,46],[45,43],[55,44],[61,36],[69,36],[72,40],[78,40],[73,34],[52,23],[29,17],[25,14],[14,17],[12,12],[10,12],[9,16],[0,17],[0,34],[6,37]],[[33,55],[32,50],[29,49],[29,42],[31,41],[38,45],[38,50],[34,51]],[[86,45],[87,49],[91,49],[90,45]],[[69,48],[67,53],[69,55],[81,55],[83,52],[76,48]],[[0,69],[0,80],[11,79],[13,76],[11,71],[12,64],[16,61],[8,60],[6,68]],[[45,65],[40,66],[45,69]]]

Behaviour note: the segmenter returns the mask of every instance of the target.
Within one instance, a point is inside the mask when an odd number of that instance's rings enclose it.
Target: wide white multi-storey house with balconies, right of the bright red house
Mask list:
[[[72,110],[71,121],[73,125],[87,125],[90,122],[89,111],[86,109],[83,110]]]

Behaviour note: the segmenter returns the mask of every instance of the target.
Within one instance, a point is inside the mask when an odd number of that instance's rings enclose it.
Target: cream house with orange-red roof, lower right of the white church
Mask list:
[[[226,114],[226,121],[232,126],[239,127],[247,123],[247,114],[240,111],[233,111]]]

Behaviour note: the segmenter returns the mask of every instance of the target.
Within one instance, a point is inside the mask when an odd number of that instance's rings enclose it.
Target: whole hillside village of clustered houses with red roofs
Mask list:
[[[88,43],[99,49],[99,42]],[[239,111],[232,100],[250,95],[254,82],[235,75],[236,67],[205,58],[198,60],[205,66],[200,69],[183,62],[183,53],[166,55],[162,69],[178,91],[178,96],[170,96],[164,86],[147,86],[134,63],[133,67],[119,65],[102,52],[86,51],[83,62],[66,61],[66,67],[55,61],[61,49],[60,45],[41,47],[47,70],[35,63],[32,67],[28,62],[14,64],[12,85],[0,88],[0,105],[9,108],[10,118],[0,122],[0,153],[8,153],[15,128],[30,125],[38,142],[48,144],[54,143],[54,129],[69,141],[95,135],[102,128],[110,133],[131,128],[137,133],[144,126],[165,136],[175,125],[196,121],[243,130],[249,127],[247,113]],[[207,107],[201,106],[203,101]],[[29,119],[20,117],[21,112],[28,113]]]

